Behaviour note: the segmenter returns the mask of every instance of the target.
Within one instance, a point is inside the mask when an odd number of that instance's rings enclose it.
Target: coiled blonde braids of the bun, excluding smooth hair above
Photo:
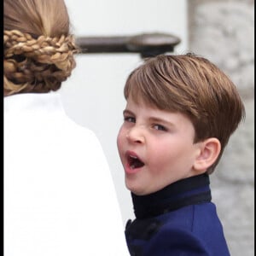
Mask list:
[[[76,66],[73,55],[79,52],[73,35],[32,38],[18,30],[3,31],[3,46],[5,95],[58,90]]]

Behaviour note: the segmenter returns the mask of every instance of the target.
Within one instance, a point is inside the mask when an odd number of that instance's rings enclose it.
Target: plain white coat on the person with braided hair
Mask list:
[[[129,255],[95,134],[57,92],[4,97],[4,255]]]

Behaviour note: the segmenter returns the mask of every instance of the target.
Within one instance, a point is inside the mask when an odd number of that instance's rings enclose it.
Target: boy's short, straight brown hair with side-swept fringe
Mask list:
[[[218,165],[230,135],[245,117],[235,84],[211,61],[199,55],[158,55],[137,67],[125,83],[125,99],[185,114],[195,127],[194,143],[216,137]]]

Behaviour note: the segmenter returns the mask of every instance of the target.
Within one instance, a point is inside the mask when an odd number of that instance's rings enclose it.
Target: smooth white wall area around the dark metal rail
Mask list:
[[[187,7],[184,0],[179,0],[178,4],[175,0],[66,0],[66,3],[77,36],[166,32],[182,38],[177,50],[183,52],[187,49]],[[124,225],[134,215],[130,192],[125,189],[116,136],[123,122],[125,79],[139,61],[138,54],[80,55],[72,77],[61,89],[67,114],[80,125],[95,131],[102,143],[113,174]]]

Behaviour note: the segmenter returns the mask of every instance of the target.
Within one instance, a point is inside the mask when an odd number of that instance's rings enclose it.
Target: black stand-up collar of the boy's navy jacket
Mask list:
[[[131,193],[136,218],[151,218],[192,204],[212,200],[209,176],[187,177],[149,195]]]

